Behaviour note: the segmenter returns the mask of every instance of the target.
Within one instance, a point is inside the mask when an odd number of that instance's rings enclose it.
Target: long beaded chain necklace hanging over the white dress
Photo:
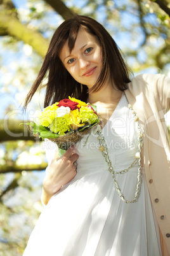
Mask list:
[[[126,94],[124,92],[124,96],[126,97]],[[141,126],[139,123],[139,117],[136,115],[136,112],[133,110],[131,104],[129,104],[128,98],[126,97],[126,101],[128,102],[128,108],[129,110],[131,110],[131,113],[134,116],[134,122],[137,123],[138,125],[138,152],[136,152],[135,154],[135,159],[133,160],[132,164],[127,168],[124,169],[122,171],[116,172],[114,171],[114,168],[112,167],[112,162],[109,159],[108,156],[108,148],[107,148],[107,144],[105,141],[105,138],[103,136],[103,133],[101,131],[101,127],[100,125],[98,125],[97,127],[97,133],[98,133],[98,140],[99,140],[99,150],[101,151],[103,157],[105,158],[105,161],[108,164],[108,171],[110,171],[110,173],[112,173],[112,178],[114,179],[114,184],[115,184],[115,189],[117,191],[117,194],[119,195],[119,197],[121,198],[122,201],[124,201],[124,203],[134,203],[138,200],[138,197],[140,196],[140,188],[141,188],[141,147],[143,146],[143,132],[141,130]],[[131,201],[128,201],[125,199],[124,195],[121,192],[121,188],[119,187],[117,180],[115,180],[115,174],[124,174],[127,173],[129,171],[129,169],[131,169],[133,166],[135,166],[136,162],[138,162],[138,183],[136,185],[136,193],[134,195],[134,199]]]

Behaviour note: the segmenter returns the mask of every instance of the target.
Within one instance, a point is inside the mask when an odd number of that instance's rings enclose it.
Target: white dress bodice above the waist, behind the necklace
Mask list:
[[[138,151],[138,127],[134,117],[128,108],[126,97],[122,94],[121,100],[114,113],[102,129],[103,136],[108,148],[108,155],[114,167],[119,172],[126,169],[135,160]],[[96,128],[86,134],[81,141],[76,143],[79,159],[77,174],[94,174],[107,171],[108,166],[105,158],[99,150],[99,140]],[[96,168],[91,169],[92,166]],[[137,164],[136,164],[137,166]],[[138,171],[134,166],[129,171]]]

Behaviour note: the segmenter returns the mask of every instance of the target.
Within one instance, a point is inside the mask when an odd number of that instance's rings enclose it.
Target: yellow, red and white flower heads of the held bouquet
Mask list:
[[[94,108],[93,105],[69,96],[69,99],[63,99],[44,108],[37,118],[39,122],[34,120],[33,123],[29,122],[26,125],[32,127],[34,134],[39,138],[56,139],[67,132],[84,131],[89,128],[89,124],[97,124],[99,120]]]

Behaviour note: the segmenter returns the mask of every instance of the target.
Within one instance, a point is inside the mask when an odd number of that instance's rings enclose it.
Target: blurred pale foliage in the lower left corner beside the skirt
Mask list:
[[[0,180],[5,175],[1,174]],[[9,177],[10,178],[10,177]],[[34,173],[25,173],[20,178],[20,186],[9,191],[0,201],[0,255],[22,255],[30,232],[42,211],[39,201],[41,187],[33,185],[37,177]],[[29,181],[29,182],[28,182]]]

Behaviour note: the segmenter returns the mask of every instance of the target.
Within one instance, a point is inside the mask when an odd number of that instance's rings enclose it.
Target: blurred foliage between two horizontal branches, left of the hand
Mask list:
[[[43,143],[40,141],[6,141],[0,145],[1,173],[21,172],[24,169],[46,169]],[[1,194],[0,194],[1,196]]]

